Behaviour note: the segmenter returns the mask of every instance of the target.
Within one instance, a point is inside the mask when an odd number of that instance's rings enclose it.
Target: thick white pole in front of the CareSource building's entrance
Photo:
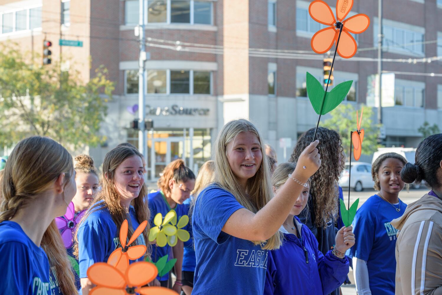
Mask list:
[[[138,72],[138,150],[147,163],[147,134],[145,130],[145,92],[146,92],[146,39],[145,39],[145,0],[139,0],[140,14],[138,36],[140,40],[140,60]]]

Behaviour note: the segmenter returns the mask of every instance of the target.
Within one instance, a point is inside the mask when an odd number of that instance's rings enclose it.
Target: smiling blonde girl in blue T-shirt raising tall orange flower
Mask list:
[[[320,166],[317,144],[305,149],[272,198],[269,162],[256,127],[244,119],[223,126],[214,146],[214,183],[191,208],[192,295],[263,294],[268,250],[281,245],[278,230]]]

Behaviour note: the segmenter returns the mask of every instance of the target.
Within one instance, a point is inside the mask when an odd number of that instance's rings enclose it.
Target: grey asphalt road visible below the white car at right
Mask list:
[[[418,200],[420,197],[422,197],[424,194],[428,193],[429,189],[404,189],[400,194],[399,198],[402,200],[405,204],[410,204],[414,202],[415,200]],[[347,204],[347,198],[348,198],[348,190],[344,190],[344,200]],[[361,207],[362,204],[371,196],[373,196],[377,191],[370,189],[370,190],[363,190],[362,192],[354,192],[353,190],[350,191],[350,203],[354,202],[357,198],[359,198],[359,207]],[[354,285],[354,279],[353,279],[353,272],[350,269],[350,273],[348,274],[348,277],[350,278],[351,282],[353,284],[351,285],[342,285],[341,290],[343,295],[356,295],[355,285]]]

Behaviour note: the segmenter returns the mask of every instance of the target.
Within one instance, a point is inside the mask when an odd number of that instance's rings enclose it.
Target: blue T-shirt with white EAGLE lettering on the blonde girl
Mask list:
[[[217,185],[198,195],[192,214],[196,254],[192,295],[263,294],[268,251],[221,231],[241,208]]]

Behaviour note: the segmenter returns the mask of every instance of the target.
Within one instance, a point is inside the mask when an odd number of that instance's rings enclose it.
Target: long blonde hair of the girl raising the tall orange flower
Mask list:
[[[235,137],[241,132],[252,132],[259,140],[261,153],[263,159],[256,174],[249,178],[245,188],[245,193],[240,189],[241,185],[232,169],[229,166],[227,159],[227,145],[231,143]],[[215,176],[214,182],[221,188],[229,191],[236,198],[236,200],[251,212],[258,212],[263,208],[272,198],[272,189],[270,182],[270,167],[267,160],[264,143],[255,125],[245,119],[233,120],[224,125],[217,136],[214,146],[215,156]],[[198,197],[196,196],[193,204],[195,204]],[[266,243],[263,241],[253,241],[255,245],[261,245],[264,250],[278,249],[281,246],[282,235],[276,232]]]

